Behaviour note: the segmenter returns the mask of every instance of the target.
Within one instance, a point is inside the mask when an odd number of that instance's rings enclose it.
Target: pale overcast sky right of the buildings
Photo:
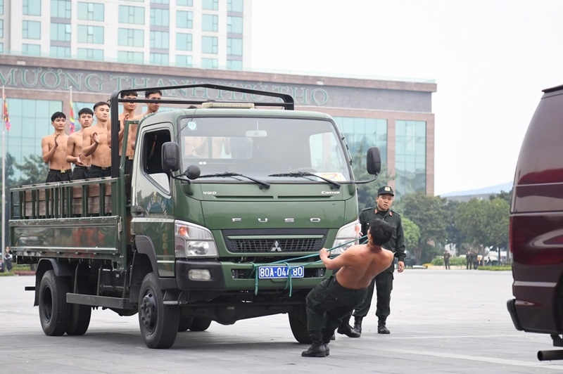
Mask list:
[[[541,90],[563,84],[562,20],[558,0],[254,0],[252,61],[434,79],[439,195],[513,180]]]

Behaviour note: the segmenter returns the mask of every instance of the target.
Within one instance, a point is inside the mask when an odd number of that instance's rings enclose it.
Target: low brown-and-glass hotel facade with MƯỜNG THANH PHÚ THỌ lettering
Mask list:
[[[434,195],[433,82],[314,77],[0,55],[11,129],[8,153],[16,162],[41,154],[41,139],[53,132],[51,114],[92,108],[121,89],[214,83],[289,93],[298,110],[326,112],[339,124],[354,156],[377,146],[398,197]],[[71,93],[72,90],[72,93]],[[165,91],[163,98],[249,101],[243,94],[208,89]],[[137,108],[144,110],[144,105]],[[162,109],[161,109],[162,110]],[[80,129],[77,124],[77,129]],[[363,156],[365,157],[365,156]]]

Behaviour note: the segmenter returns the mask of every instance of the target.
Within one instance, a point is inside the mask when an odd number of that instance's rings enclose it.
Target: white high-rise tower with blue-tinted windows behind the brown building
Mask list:
[[[242,70],[251,9],[252,0],[0,0],[0,53]]]

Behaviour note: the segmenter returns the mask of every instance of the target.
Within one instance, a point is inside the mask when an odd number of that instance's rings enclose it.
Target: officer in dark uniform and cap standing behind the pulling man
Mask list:
[[[403,236],[403,223],[400,219],[400,215],[391,210],[394,197],[395,193],[393,193],[393,188],[389,186],[379,188],[376,198],[377,206],[363,209],[358,219],[362,226],[362,235],[365,235],[369,230],[369,222],[372,221],[372,219],[383,219],[393,226],[393,238],[391,238],[388,243],[384,244],[383,247],[386,250],[391,250],[391,252],[395,254],[396,259],[398,259],[398,272],[401,273],[405,270],[405,236]],[[386,321],[389,314],[391,314],[389,304],[391,302],[391,290],[393,290],[394,269],[394,264],[391,264],[389,269],[382,271],[372,280],[372,284],[369,285],[367,290],[365,301],[360,307],[355,309],[353,313],[355,318],[354,328],[352,329],[349,325],[350,317],[348,316],[348,318],[343,319],[342,324],[337,330],[338,333],[348,335],[349,337],[360,337],[362,333],[362,320],[367,316],[369,307],[372,304],[374,288],[377,290],[377,310],[375,312],[378,318],[377,333],[391,333],[386,327]]]

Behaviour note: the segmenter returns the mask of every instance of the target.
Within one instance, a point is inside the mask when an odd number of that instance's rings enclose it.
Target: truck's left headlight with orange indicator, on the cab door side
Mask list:
[[[208,228],[175,221],[174,233],[176,257],[217,257],[217,245]]]

